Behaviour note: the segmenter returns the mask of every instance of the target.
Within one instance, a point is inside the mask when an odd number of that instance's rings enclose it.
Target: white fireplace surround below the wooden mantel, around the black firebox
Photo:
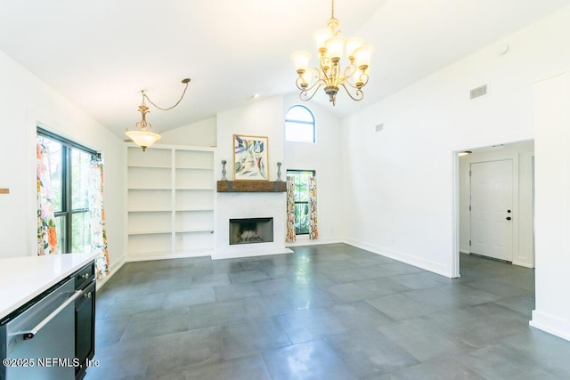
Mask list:
[[[212,259],[288,254],[285,247],[286,193],[216,193],[216,247]],[[273,242],[230,245],[230,219],[273,218]]]

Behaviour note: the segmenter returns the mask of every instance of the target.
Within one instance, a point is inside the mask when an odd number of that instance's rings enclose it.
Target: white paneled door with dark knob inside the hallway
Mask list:
[[[513,260],[512,159],[471,164],[471,253]]]

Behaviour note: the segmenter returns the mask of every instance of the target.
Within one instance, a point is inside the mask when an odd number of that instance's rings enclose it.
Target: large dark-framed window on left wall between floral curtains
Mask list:
[[[91,251],[90,170],[97,153],[41,128],[37,142],[50,166],[57,247],[62,254]]]

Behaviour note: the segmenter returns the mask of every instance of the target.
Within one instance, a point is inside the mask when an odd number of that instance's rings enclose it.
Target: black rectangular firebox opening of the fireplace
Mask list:
[[[230,219],[230,246],[272,242],[272,217]]]

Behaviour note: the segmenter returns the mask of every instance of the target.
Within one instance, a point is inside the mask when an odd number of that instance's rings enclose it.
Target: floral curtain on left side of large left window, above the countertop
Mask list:
[[[37,255],[56,255],[55,217],[53,215],[52,169],[45,145],[36,143],[37,159]]]

